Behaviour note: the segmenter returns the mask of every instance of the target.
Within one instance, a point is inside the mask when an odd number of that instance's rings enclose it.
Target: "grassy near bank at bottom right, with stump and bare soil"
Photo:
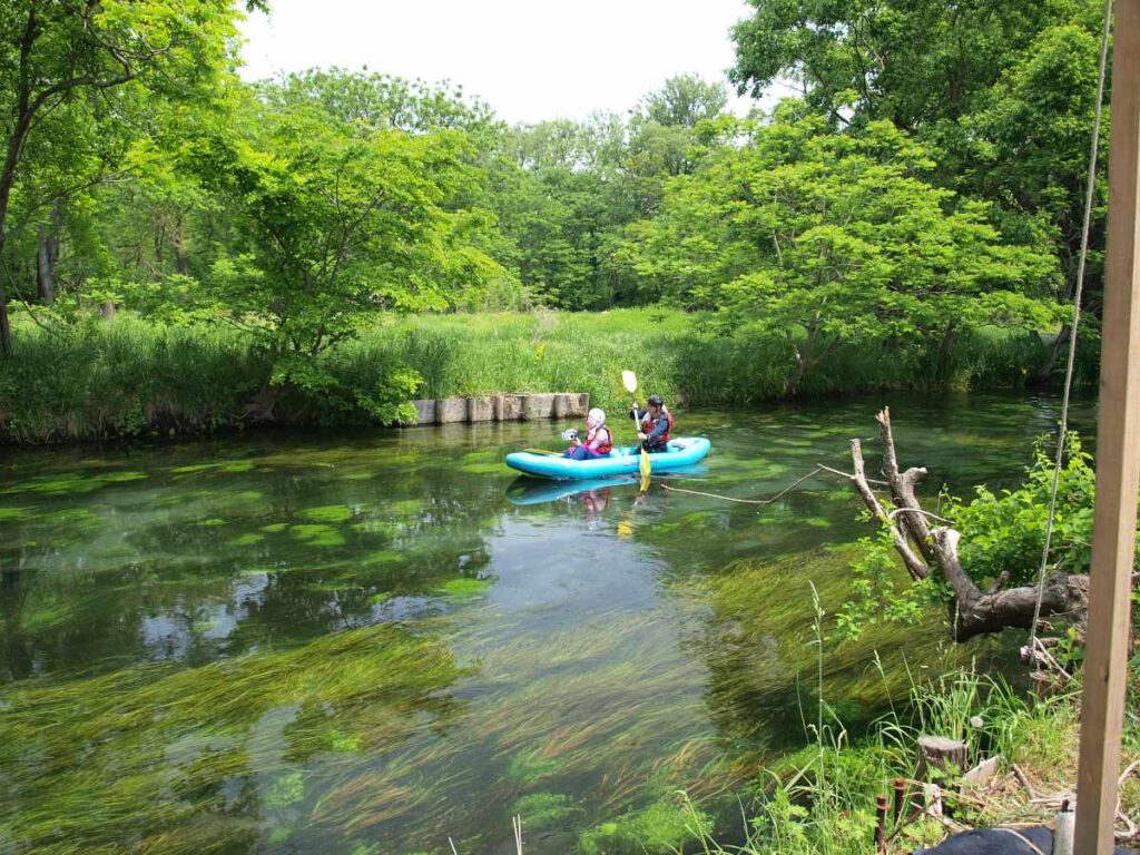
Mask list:
[[[690,847],[707,855],[863,855],[874,849],[876,797],[887,796],[890,804],[891,783],[898,779],[906,782],[914,807],[899,819],[888,811],[888,853],[935,846],[967,828],[1050,824],[1061,799],[1072,801],[1076,791],[1080,694],[1077,684],[1072,685],[1070,693],[1040,701],[1001,679],[972,671],[946,675],[913,686],[909,703],[854,743],[825,712],[815,744],[757,779],[759,805],[746,823],[742,846],[724,848],[693,821]],[[921,734],[966,742],[971,765],[999,758],[994,776],[982,783],[961,783],[953,774],[935,779],[944,793],[940,821],[921,815],[922,792],[914,781]],[[1140,734],[1130,717],[1122,768],[1138,758]],[[1140,783],[1129,777],[1121,789],[1121,811],[1135,816],[1138,808]]]

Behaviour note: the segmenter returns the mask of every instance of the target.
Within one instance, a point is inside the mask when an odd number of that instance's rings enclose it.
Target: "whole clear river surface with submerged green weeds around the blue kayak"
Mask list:
[[[847,467],[881,402],[683,414],[712,454],[669,483],[775,496]],[[1015,482],[1057,412],[890,402],[927,496]],[[0,848],[497,852],[521,813],[528,853],[641,852],[683,836],[678,788],[739,817],[806,740],[812,585],[845,598],[856,502],[822,477],[764,507],[514,479],[504,454],[556,432],[7,455]],[[876,629],[829,643],[824,692],[857,727],[907,668],[1009,648]]]

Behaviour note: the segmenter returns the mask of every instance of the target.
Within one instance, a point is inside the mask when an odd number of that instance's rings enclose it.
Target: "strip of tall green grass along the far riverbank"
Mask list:
[[[166,327],[120,317],[44,332],[17,331],[0,360],[0,440],[51,442],[148,433],[201,433],[264,421],[259,393],[271,361],[253,339],[223,327]],[[960,336],[950,358],[921,344],[833,348],[803,396],[883,388],[1001,388],[1023,383],[1045,356],[1037,336],[1000,329]],[[758,329],[717,334],[707,318],[658,309],[602,314],[453,315],[392,320],[321,357],[335,380],[279,396],[271,420],[352,425],[359,405],[402,368],[417,397],[497,391],[586,391],[626,404],[621,370],[669,401],[747,406],[780,398],[792,370],[785,344]]]

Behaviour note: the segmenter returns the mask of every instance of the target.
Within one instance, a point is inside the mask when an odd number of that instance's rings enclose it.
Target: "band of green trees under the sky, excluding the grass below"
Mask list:
[[[119,306],[238,325],[287,384],[385,312],[665,300],[766,329],[793,394],[860,341],[948,377],[962,333],[1058,329],[1099,6],[751,5],[731,81],[803,92],[771,115],[681,74],[624,114],[518,127],[367,68],[243,83],[223,0],[13,5],[0,347],[7,296],[48,325]],[[1093,308],[1101,236],[1098,213]]]

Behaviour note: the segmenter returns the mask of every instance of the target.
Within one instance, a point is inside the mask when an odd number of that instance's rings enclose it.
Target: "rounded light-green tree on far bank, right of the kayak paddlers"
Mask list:
[[[1002,243],[987,207],[926,182],[926,150],[887,122],[828,133],[790,106],[741,148],[667,186],[632,229],[660,293],[758,320],[785,343],[787,392],[844,342],[942,342],[982,324],[1048,323],[1054,262]]]

